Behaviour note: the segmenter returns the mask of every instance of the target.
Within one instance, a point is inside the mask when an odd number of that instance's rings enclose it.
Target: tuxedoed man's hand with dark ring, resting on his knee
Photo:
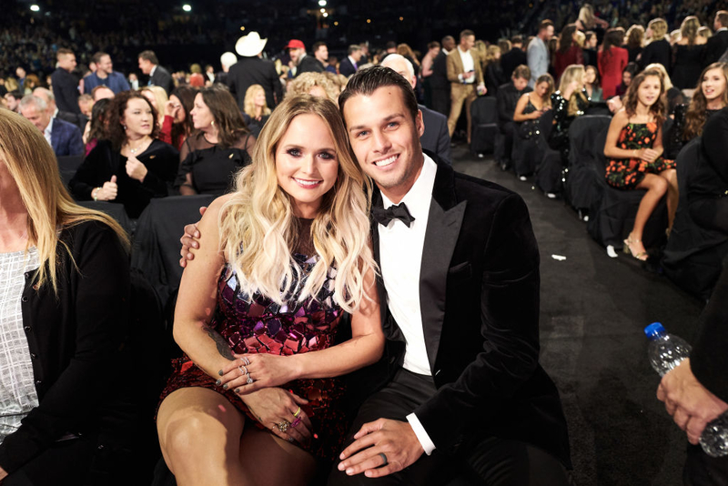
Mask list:
[[[410,423],[379,419],[365,423],[339,459],[339,471],[349,476],[364,472],[368,478],[379,478],[401,471],[420,459],[424,453]],[[385,465],[384,458],[387,456]]]

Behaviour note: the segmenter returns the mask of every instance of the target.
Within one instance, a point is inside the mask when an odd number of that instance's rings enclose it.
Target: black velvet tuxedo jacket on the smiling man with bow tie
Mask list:
[[[420,309],[436,394],[413,410],[439,451],[500,437],[571,466],[566,420],[539,364],[539,249],[528,209],[504,187],[456,173],[436,156],[420,269]],[[381,205],[376,191],[373,205]],[[372,223],[375,258],[379,232]],[[405,340],[379,279],[387,376]],[[379,370],[381,372],[381,370]],[[379,375],[381,376],[381,374]],[[383,383],[380,383],[383,385]]]

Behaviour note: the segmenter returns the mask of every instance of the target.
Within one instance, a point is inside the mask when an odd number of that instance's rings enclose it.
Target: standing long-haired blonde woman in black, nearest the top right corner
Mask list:
[[[680,25],[680,38],[672,46],[672,84],[689,89],[693,94],[703,72],[703,56],[707,39],[698,35],[700,21],[696,16],[685,17]]]

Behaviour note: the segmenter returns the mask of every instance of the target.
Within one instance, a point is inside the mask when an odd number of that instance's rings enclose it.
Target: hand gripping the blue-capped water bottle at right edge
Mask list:
[[[695,379],[690,369],[690,359],[662,377],[657,389],[657,399],[665,402],[665,410],[672,420],[688,434],[691,444],[697,444],[703,429],[728,410],[728,403],[719,399]]]

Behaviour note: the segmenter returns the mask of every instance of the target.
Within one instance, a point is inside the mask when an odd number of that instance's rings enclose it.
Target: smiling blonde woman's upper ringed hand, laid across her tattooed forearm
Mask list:
[[[244,395],[264,388],[278,387],[296,380],[297,360],[293,356],[277,356],[274,354],[236,354],[236,360],[220,370],[220,386],[236,390]]]

